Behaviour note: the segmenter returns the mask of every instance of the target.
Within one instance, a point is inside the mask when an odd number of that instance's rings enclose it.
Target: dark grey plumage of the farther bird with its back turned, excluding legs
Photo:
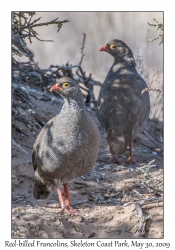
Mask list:
[[[111,50],[111,44],[115,44],[116,48]],[[111,153],[121,155],[129,141],[145,125],[150,112],[150,99],[148,92],[141,93],[147,84],[135,68],[130,48],[117,39],[106,46],[105,51],[114,57],[114,63],[100,90],[98,116],[105,128]]]

